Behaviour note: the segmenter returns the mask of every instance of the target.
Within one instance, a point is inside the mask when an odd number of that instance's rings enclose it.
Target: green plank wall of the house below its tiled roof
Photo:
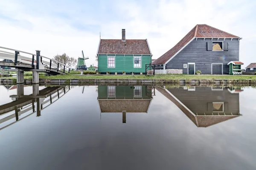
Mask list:
[[[115,68],[108,68],[108,56],[116,56]],[[134,56],[141,57],[141,68],[134,68]],[[99,54],[98,71],[145,73],[145,64],[152,62],[151,55]]]

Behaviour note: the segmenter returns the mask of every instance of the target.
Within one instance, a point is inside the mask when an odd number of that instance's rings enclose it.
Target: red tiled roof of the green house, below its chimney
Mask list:
[[[147,40],[101,39],[98,54],[151,54]]]

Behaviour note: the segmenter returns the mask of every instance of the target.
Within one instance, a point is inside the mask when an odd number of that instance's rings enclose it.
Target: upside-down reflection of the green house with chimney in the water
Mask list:
[[[148,113],[154,88],[150,86],[99,86],[98,102],[101,113]]]

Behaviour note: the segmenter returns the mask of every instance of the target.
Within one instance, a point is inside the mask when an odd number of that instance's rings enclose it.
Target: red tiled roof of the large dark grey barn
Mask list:
[[[183,37],[173,48],[156,59],[153,64],[166,63],[172,58],[178,51],[180,51],[190,40],[194,38],[239,38],[233,34],[229,34],[225,31],[221,31],[217,28],[208,26],[206,24],[196,25],[188,34]]]

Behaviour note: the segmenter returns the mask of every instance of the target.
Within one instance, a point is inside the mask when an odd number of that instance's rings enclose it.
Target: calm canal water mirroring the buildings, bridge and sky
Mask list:
[[[1,170],[255,170],[256,89],[0,86]]]

